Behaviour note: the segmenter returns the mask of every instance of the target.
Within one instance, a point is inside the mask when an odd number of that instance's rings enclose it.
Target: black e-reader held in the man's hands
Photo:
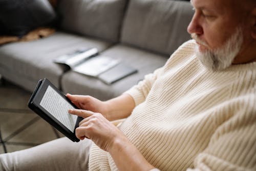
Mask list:
[[[70,140],[79,141],[75,135],[75,129],[83,118],[68,112],[69,109],[78,107],[48,79],[38,81],[28,106]]]

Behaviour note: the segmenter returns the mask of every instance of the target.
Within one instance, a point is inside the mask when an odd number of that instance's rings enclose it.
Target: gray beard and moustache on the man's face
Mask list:
[[[198,40],[198,36],[191,34],[191,37],[197,42],[205,45],[206,43]],[[243,43],[242,29],[239,27],[234,34],[228,39],[224,45],[215,50],[207,49],[204,52],[199,51],[199,46],[196,49],[196,55],[200,62],[208,70],[221,71],[229,67],[234,58],[239,53]]]

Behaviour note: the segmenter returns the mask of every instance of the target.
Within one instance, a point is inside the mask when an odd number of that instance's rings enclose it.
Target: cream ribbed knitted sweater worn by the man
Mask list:
[[[256,62],[211,72],[184,43],[126,93],[136,102],[120,130],[160,170],[256,170]],[[93,145],[90,170],[118,170]]]

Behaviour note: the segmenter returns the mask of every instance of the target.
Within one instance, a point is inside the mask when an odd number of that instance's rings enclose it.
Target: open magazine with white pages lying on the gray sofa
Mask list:
[[[65,64],[73,71],[98,77],[98,75],[119,63],[119,60],[108,56],[98,55],[96,48],[83,48],[61,55],[55,63]]]

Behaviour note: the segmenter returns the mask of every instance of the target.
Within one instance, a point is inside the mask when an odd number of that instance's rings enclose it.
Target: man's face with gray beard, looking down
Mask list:
[[[195,14],[188,32],[198,44],[198,57],[210,70],[230,66],[243,43],[237,4],[231,0],[191,0]]]

